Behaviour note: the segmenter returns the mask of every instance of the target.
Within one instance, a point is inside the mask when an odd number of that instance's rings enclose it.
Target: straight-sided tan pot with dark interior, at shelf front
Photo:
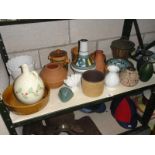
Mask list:
[[[97,70],[89,70],[82,74],[83,93],[89,97],[100,96],[104,88],[104,74]]]

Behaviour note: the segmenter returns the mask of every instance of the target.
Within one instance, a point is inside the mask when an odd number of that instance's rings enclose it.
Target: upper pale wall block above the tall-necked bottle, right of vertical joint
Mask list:
[[[124,20],[122,19],[71,20],[71,42],[77,42],[77,40],[82,38],[98,40],[120,36],[123,22]]]

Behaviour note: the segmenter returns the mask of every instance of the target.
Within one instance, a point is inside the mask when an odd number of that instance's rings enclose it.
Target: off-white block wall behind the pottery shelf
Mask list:
[[[155,40],[155,20],[139,19],[138,23],[144,42]],[[32,55],[39,69],[49,62],[48,54],[51,51],[61,48],[70,55],[71,48],[82,38],[90,41],[90,52],[102,49],[107,57],[111,57],[110,44],[112,40],[120,38],[122,27],[122,19],[65,20],[0,26],[0,33],[9,57]],[[138,45],[134,28],[131,34],[130,39]],[[0,84],[6,83],[6,80],[1,78]],[[0,134],[6,133],[0,130]]]

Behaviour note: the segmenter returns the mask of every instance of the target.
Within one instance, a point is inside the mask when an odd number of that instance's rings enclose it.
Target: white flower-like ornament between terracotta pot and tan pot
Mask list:
[[[81,80],[81,74],[71,74],[64,80],[64,83],[73,91],[77,90],[78,84]]]

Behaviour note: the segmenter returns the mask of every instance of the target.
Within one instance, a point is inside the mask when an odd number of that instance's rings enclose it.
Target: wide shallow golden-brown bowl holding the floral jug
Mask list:
[[[43,109],[46,104],[48,103],[49,99],[49,89],[45,89],[45,93],[43,98],[34,103],[34,104],[24,104],[21,103],[14,95],[13,92],[13,85],[8,86],[5,91],[3,92],[3,101],[4,104],[13,112],[19,115],[28,115],[35,112],[38,112],[39,110]]]

